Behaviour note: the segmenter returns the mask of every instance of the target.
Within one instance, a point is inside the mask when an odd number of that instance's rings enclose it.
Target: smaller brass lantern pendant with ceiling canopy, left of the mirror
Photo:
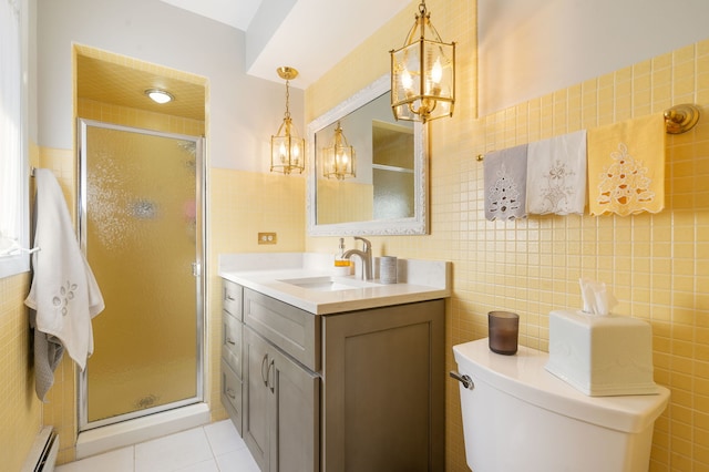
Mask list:
[[[298,76],[298,71],[294,68],[278,68],[278,76],[286,81],[286,114],[284,122],[275,136],[270,136],[270,172],[282,172],[290,174],[292,171],[302,173],[305,165],[306,142],[298,135],[298,130],[290,119],[289,100],[290,91],[288,83]]]

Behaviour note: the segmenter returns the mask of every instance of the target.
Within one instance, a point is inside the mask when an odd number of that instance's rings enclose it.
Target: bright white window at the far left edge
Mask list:
[[[25,3],[0,0],[0,277],[29,269]]]

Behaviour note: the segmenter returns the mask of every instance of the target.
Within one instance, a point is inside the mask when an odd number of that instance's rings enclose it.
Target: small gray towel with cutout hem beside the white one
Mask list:
[[[526,214],[527,145],[485,156],[485,218],[515,219]]]

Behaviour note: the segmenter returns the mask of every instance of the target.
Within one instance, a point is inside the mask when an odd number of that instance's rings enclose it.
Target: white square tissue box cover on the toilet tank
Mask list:
[[[552,311],[546,370],[592,397],[658,392],[651,327],[629,317]]]

